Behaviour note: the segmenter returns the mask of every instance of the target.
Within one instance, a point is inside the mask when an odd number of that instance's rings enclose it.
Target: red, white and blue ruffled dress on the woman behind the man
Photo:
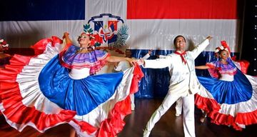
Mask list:
[[[241,130],[257,123],[257,77],[242,73],[231,59],[227,62],[206,64],[212,77],[198,76],[202,86],[195,103],[211,122]]]

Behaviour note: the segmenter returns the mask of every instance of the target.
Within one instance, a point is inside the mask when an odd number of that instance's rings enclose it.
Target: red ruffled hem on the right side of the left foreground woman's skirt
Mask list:
[[[138,91],[138,82],[143,77],[143,72],[140,66],[136,65],[133,70],[133,79],[131,81],[130,93],[136,93]],[[131,113],[131,99],[127,96],[123,101],[119,101],[115,104],[114,108],[109,112],[109,118],[106,118],[101,122],[99,128],[91,126],[84,121],[76,121],[79,124],[81,131],[86,133],[96,132],[97,137],[114,137],[117,133],[121,132],[125,126],[124,118]]]

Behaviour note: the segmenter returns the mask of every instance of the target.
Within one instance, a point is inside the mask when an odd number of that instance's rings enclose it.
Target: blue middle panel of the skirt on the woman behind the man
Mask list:
[[[248,101],[253,94],[251,83],[241,71],[236,73],[234,81],[201,76],[198,76],[198,80],[218,103],[234,104]]]

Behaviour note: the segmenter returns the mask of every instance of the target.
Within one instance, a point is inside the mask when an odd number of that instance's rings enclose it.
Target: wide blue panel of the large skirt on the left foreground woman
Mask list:
[[[58,56],[55,56],[39,74],[39,86],[50,101],[82,116],[109,100],[122,77],[120,72],[75,80],[69,77],[69,69],[61,66]]]

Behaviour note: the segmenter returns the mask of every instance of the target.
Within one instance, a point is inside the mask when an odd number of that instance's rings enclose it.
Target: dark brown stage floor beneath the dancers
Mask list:
[[[162,99],[147,99],[147,98],[136,98],[136,108],[132,111],[131,115],[125,118],[126,125],[124,130],[119,133],[119,137],[141,137],[143,136],[143,128],[145,128],[148,119],[151,117],[153,111],[158,108]],[[152,137],[183,137],[183,124],[182,117],[175,116],[175,105],[173,105],[167,113],[165,113],[160,121],[156,123],[153,130],[151,131]],[[196,108],[196,136],[197,137],[248,137],[257,136],[257,124],[246,126],[243,131],[235,131],[233,128],[228,126],[217,126],[208,121],[208,118],[204,123],[199,122],[201,111]],[[68,124],[62,124],[47,130],[45,133],[39,133],[34,128],[26,127],[21,133],[16,131],[14,128],[9,126],[4,116],[0,116],[0,136],[1,137],[68,137],[70,126]]]

